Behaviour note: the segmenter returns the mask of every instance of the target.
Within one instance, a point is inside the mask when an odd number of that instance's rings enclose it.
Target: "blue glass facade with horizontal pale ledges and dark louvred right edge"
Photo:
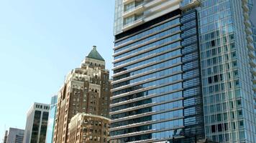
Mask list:
[[[174,11],[116,36],[111,142],[204,138],[196,16]]]

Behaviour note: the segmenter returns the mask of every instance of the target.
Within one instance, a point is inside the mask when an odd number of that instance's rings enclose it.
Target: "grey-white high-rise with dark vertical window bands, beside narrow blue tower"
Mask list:
[[[45,143],[49,109],[49,104],[32,104],[27,112],[23,143]]]

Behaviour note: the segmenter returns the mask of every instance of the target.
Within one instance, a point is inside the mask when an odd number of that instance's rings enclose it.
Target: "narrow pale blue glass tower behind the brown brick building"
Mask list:
[[[58,96],[55,95],[52,97],[50,102],[50,110],[49,110],[49,117],[47,122],[47,132],[46,132],[45,143],[52,143],[52,140],[53,140],[55,117],[57,112],[57,101],[58,101]]]

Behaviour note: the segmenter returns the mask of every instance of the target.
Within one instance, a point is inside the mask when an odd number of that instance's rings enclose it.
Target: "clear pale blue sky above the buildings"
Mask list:
[[[111,69],[114,0],[0,0],[0,139],[24,129],[96,45]]]

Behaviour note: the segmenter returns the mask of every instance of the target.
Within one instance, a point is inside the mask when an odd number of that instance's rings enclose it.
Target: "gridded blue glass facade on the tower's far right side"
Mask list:
[[[206,137],[256,142],[248,1],[202,0],[198,7]]]

